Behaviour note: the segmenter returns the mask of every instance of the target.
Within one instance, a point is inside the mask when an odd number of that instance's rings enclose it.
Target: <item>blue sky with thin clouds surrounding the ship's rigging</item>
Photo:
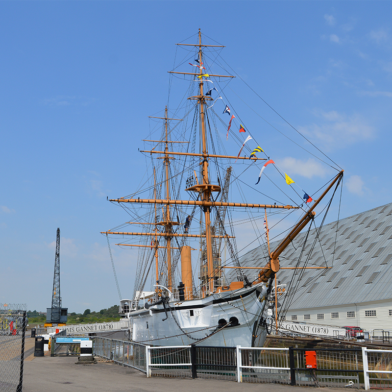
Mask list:
[[[1,1],[0,301],[50,306],[60,227],[63,306],[118,302],[99,232],[126,218],[106,196],[141,181],[147,117],[167,103],[175,44],[198,28],[344,169],[341,217],[391,202],[391,14],[390,1]],[[247,127],[307,189],[333,173],[261,120]],[[112,250],[130,296],[133,256]]]

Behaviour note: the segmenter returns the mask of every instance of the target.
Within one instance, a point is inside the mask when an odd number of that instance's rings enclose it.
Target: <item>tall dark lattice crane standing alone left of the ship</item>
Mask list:
[[[54,277],[52,306],[47,308],[46,327],[65,325],[68,319],[68,308],[61,307],[60,296],[60,228],[57,228],[56,257],[54,259]]]

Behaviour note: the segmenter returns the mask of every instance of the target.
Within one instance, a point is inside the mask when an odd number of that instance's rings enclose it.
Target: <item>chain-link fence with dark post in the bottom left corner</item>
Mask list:
[[[26,304],[0,304],[0,392],[22,392]]]

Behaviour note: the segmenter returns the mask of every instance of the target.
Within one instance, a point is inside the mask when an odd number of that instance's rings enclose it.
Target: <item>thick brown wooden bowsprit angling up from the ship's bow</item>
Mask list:
[[[322,198],[330,191],[334,184],[343,177],[343,170],[331,181],[321,196],[315,200],[312,207],[306,211],[305,215],[298,221],[293,227],[291,232],[280,242],[274,251],[270,253],[270,262],[259,272],[259,279],[257,282],[263,281],[268,282],[272,273],[276,273],[279,267],[279,255],[286,249],[286,247],[294,240],[294,238],[300,233],[300,231],[315,217],[316,213],[313,211],[319,204]],[[322,267],[321,267],[322,268]]]

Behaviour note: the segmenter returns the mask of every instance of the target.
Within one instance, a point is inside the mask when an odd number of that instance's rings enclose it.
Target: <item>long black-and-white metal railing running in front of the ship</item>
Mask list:
[[[148,346],[94,337],[93,354],[147,377],[225,379],[300,386],[392,388],[392,350]],[[310,352],[309,352],[310,351]],[[307,356],[313,354],[314,363]]]

